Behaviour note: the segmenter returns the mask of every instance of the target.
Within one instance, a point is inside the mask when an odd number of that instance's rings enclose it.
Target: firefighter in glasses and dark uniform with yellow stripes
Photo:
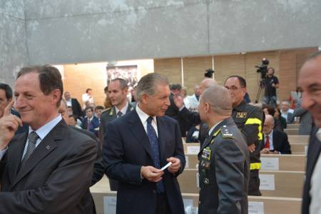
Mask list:
[[[225,80],[233,100],[232,118],[243,134],[248,150],[250,151],[250,183],[248,195],[261,195],[260,193],[260,145],[263,141],[263,111],[244,101],[246,81],[241,76],[230,76]]]

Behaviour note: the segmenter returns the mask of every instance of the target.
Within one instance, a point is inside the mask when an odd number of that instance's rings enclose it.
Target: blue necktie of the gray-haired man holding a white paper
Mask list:
[[[153,153],[153,162],[154,162],[155,168],[160,169],[161,163],[159,160],[158,138],[157,138],[155,129],[151,125],[152,121],[153,121],[152,117],[149,117],[147,119],[147,136],[149,139],[149,143],[151,143],[151,148],[152,148],[152,153]],[[164,193],[165,192],[163,180],[158,181],[158,183],[156,183],[156,187],[157,187],[157,193]]]

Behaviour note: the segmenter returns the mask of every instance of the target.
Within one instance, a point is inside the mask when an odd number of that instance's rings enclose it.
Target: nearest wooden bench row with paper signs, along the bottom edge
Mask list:
[[[116,214],[116,195],[117,192],[98,191],[92,192],[93,200],[96,205],[96,213],[103,214],[104,209],[108,214]],[[185,213],[197,213],[198,194],[182,193],[185,206]],[[265,214],[299,214],[301,198],[277,198],[265,196],[248,196],[249,213],[259,213],[260,209]]]

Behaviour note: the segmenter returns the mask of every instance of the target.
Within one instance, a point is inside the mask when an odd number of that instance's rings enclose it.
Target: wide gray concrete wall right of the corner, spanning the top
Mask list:
[[[320,0],[29,0],[29,63],[320,46],[320,8]]]

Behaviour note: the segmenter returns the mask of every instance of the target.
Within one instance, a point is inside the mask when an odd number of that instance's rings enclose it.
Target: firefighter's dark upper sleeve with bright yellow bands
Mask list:
[[[263,111],[259,108],[255,109],[245,121],[245,126],[240,129],[245,138],[245,142],[250,146],[255,143],[255,146],[260,146],[260,141],[263,139]]]

